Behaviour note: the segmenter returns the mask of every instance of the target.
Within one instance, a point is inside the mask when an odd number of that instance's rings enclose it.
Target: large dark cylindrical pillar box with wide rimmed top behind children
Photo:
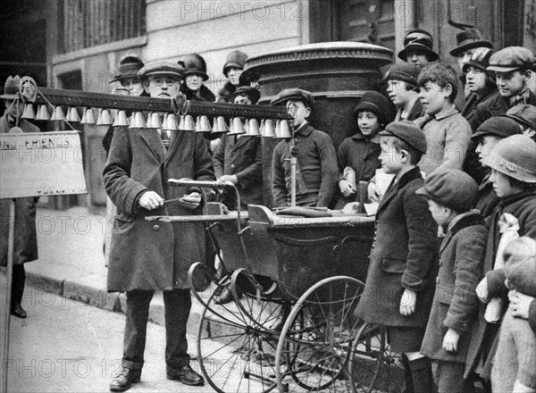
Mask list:
[[[309,122],[327,132],[335,148],[356,132],[353,109],[367,90],[378,90],[380,67],[391,63],[386,47],[356,42],[323,42],[294,46],[247,60],[246,69],[260,76],[262,98],[268,104],[283,88],[303,88],[314,95]],[[271,196],[272,150],[264,141],[264,195]],[[272,205],[272,199],[265,201]]]

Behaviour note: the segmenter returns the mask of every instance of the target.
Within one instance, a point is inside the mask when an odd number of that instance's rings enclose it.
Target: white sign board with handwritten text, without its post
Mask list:
[[[77,131],[0,134],[0,198],[87,192]]]

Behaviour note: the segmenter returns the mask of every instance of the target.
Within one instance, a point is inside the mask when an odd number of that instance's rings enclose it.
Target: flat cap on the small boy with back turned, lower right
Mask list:
[[[415,191],[457,213],[465,213],[473,208],[478,194],[478,184],[465,171],[446,169],[432,171],[424,187]]]

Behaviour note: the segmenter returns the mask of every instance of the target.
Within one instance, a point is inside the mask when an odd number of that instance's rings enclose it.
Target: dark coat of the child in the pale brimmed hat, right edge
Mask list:
[[[523,192],[515,196],[502,198],[490,217],[490,235],[486,244],[483,272],[488,279],[489,297],[503,297],[505,299],[504,304],[507,305],[507,288],[504,284],[505,275],[500,269],[493,270],[493,265],[497,257],[498,242],[500,240],[498,220],[503,213],[510,213],[518,220],[519,236],[528,236],[536,240],[536,193]],[[467,351],[465,378],[467,378],[470,372],[477,369],[482,355],[482,346],[487,341],[493,341],[492,338],[486,337],[490,335],[490,329],[487,329],[489,323],[483,317],[485,310],[486,305],[481,303],[479,305],[479,318],[474,324],[469,350]],[[503,310],[503,314],[505,312],[506,307]],[[498,339],[498,337],[495,339]],[[491,349],[487,364],[482,371],[482,376],[488,379],[490,378],[491,359],[494,354],[493,348]]]

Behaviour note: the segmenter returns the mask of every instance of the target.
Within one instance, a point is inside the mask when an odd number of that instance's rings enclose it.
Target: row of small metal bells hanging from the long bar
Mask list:
[[[197,121],[189,115],[181,115],[180,121],[177,121],[177,116],[174,113],[164,113],[163,121],[160,113],[149,113],[147,115],[147,123],[144,120],[143,113],[132,113],[130,119],[127,118],[125,111],[118,111],[113,120],[112,114],[107,109],[102,109],[95,121],[95,113],[93,109],[88,108],[84,111],[80,119],[76,108],[71,107],[67,110],[67,115],[63,113],[61,106],[56,106],[52,116],[49,116],[46,105],[38,106],[38,113],[34,111],[31,104],[27,104],[22,113],[22,119],[40,120],[40,121],[69,121],[80,122],[80,124],[95,124],[97,126],[120,127],[128,126],[130,129],[158,129],[158,130],[181,130],[194,132],[210,132],[213,134],[228,133],[229,135],[245,134],[251,137],[264,138],[291,138],[289,121],[272,119],[263,119],[260,124],[256,119],[242,121],[239,117],[230,120],[230,125],[223,116],[214,118],[211,126],[208,117],[205,115],[197,116]]]

